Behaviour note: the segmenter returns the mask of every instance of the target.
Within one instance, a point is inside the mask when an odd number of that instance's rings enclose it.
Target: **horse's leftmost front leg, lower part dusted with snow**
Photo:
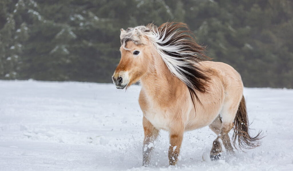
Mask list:
[[[142,119],[142,124],[144,127],[142,165],[148,167],[151,159],[151,152],[154,149],[154,140],[158,137],[159,130],[156,129],[145,117]]]

